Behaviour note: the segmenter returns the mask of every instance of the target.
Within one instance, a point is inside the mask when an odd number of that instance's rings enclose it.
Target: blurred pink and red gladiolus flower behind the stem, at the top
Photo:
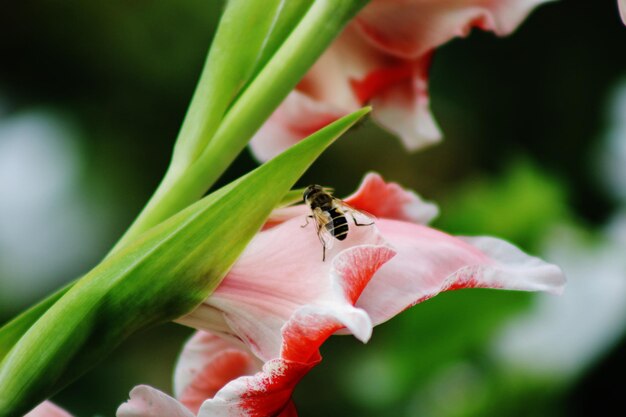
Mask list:
[[[366,103],[409,151],[438,142],[428,70],[436,47],[473,28],[504,36],[545,0],[373,0],[252,139],[268,160]]]

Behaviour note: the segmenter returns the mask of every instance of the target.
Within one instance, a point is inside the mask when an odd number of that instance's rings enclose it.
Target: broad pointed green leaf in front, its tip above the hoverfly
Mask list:
[[[0,416],[21,415],[124,338],[192,311],[310,164],[369,110],[311,135],[105,259],[47,309],[0,363]]]

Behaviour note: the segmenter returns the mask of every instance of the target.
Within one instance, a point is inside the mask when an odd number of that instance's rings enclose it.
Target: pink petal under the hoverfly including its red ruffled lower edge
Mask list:
[[[199,416],[295,416],[291,394],[319,363],[320,345],[344,327],[363,341],[370,337],[369,317],[353,304],[395,252],[377,244],[375,227],[353,226],[348,242],[337,243],[322,262],[315,232],[302,229],[302,221],[261,232],[207,300],[266,362],[261,372],[226,384],[202,404]],[[285,236],[289,247],[276,248]],[[258,267],[261,259],[266,268]],[[198,341],[210,345],[206,338]]]

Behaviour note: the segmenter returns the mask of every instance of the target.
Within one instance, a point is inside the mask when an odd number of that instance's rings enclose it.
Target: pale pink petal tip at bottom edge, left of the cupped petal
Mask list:
[[[194,417],[181,403],[147,385],[130,392],[130,399],[120,405],[117,417]]]

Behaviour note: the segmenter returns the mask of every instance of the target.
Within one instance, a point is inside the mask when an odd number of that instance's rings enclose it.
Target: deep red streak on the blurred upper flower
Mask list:
[[[362,80],[350,80],[350,84],[359,102],[364,104],[390,86],[408,81],[412,76],[412,63],[402,61],[398,65],[374,70]]]

